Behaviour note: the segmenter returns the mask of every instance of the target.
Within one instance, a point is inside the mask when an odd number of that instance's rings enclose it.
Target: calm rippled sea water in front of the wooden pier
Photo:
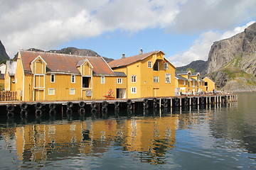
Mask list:
[[[186,111],[0,115],[0,169],[256,169],[256,94]]]

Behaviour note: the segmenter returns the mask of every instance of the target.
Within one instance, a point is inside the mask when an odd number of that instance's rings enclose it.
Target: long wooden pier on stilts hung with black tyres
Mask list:
[[[9,116],[14,113],[21,115],[42,113],[61,113],[71,114],[79,113],[97,113],[107,111],[136,111],[137,109],[150,108],[172,108],[183,109],[194,106],[215,106],[223,103],[233,103],[238,100],[235,94],[218,94],[203,96],[170,96],[158,98],[130,98],[130,99],[114,99],[114,100],[95,100],[95,101],[6,101],[0,102],[1,114]],[[171,109],[171,111],[172,111]]]

